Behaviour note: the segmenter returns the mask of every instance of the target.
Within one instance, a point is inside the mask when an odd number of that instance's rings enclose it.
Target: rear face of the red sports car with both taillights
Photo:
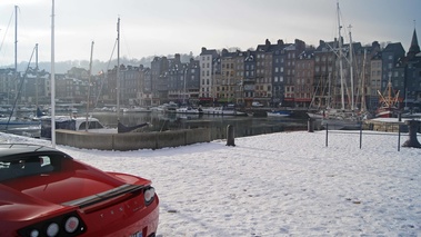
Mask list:
[[[156,236],[159,199],[150,186],[123,185],[62,204],[61,211],[36,218],[19,236]]]

